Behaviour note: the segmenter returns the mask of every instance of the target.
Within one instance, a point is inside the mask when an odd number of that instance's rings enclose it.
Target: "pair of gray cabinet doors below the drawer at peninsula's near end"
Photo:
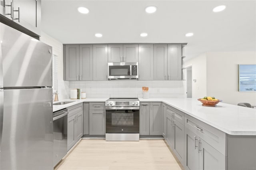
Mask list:
[[[225,170],[225,156],[186,128],[186,170]]]

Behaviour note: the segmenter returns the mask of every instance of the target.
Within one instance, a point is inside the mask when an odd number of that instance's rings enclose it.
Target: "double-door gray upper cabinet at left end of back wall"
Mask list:
[[[64,80],[92,80],[92,45],[63,45]]]

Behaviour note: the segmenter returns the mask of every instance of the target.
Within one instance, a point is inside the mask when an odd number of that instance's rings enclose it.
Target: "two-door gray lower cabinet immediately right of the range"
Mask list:
[[[162,102],[140,102],[140,135],[162,135]]]

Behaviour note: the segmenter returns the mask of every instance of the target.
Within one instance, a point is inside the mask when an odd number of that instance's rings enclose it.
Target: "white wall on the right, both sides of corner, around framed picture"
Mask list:
[[[238,64],[256,64],[256,52],[207,52],[185,61],[192,65],[192,97],[214,96],[224,103],[256,105],[256,92],[238,91]],[[199,88],[199,89],[198,89]]]

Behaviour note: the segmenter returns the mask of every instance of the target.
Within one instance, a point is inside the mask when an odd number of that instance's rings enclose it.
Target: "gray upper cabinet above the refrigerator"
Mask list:
[[[0,2],[0,14],[40,36],[41,0],[0,0]]]

